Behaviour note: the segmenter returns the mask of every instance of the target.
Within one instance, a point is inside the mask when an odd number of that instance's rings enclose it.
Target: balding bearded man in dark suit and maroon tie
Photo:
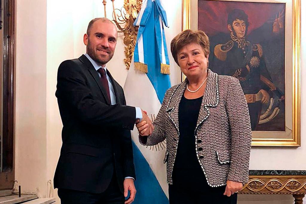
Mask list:
[[[58,68],[55,95],[63,144],[54,187],[62,204],[129,204],[134,200],[130,130],[140,120],[146,120],[150,129],[151,121],[140,108],[126,106],[122,87],[106,70],[116,42],[115,25],[95,18],[84,34],[86,54]]]

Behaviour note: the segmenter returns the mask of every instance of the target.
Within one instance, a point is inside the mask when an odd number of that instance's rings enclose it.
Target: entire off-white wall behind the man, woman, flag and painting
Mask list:
[[[42,197],[48,194],[47,181],[53,183],[62,144],[62,122],[54,95],[58,66],[63,60],[78,58],[85,52],[82,39],[88,22],[94,17],[104,16],[102,1],[86,3],[82,0],[17,1],[15,178],[24,192],[36,192],[39,188]],[[165,28],[170,55],[170,41],[181,31],[181,1],[168,0],[164,4],[170,25],[170,28]],[[116,8],[122,5],[123,0],[115,1]],[[302,8],[305,10],[303,4]],[[110,2],[107,9],[107,17],[111,18]],[[304,15],[302,13],[302,22],[306,22]],[[304,27],[302,33],[306,33]],[[122,34],[118,39],[114,57],[107,68],[123,86],[127,70],[123,63]],[[302,39],[301,45],[305,47],[306,40]],[[306,53],[302,50],[302,59],[305,57]],[[170,64],[170,78],[174,85],[181,81],[181,74],[171,55]],[[302,76],[306,76],[303,68],[306,65],[302,60]],[[302,80],[302,89],[305,83]],[[302,124],[306,119],[305,99],[302,95]],[[305,133],[302,126],[302,145],[299,148],[252,148],[250,168],[306,169],[306,161],[302,159],[306,155]],[[239,204],[257,203],[285,204],[293,203],[293,199],[290,195],[239,195]]]

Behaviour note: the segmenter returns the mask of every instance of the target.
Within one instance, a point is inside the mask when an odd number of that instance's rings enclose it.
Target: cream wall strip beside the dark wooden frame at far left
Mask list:
[[[47,186],[46,3],[16,1],[15,179],[24,192],[42,196]]]

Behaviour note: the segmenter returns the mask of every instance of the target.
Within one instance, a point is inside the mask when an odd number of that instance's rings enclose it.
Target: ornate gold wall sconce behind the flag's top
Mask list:
[[[123,32],[124,39],[124,64],[126,69],[131,66],[132,57],[136,45],[138,27],[133,26],[133,23],[141,9],[142,0],[124,0],[123,7],[121,9],[115,9],[114,0],[110,0],[113,3],[113,21],[119,29],[118,32]],[[105,2],[105,4],[104,4]],[[104,13],[106,17],[106,0],[103,0]]]

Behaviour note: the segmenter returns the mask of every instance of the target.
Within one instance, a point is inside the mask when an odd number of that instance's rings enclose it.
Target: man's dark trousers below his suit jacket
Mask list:
[[[123,204],[125,201],[115,174],[110,185],[103,193],[88,193],[59,188],[58,197],[61,199],[61,204]]]

